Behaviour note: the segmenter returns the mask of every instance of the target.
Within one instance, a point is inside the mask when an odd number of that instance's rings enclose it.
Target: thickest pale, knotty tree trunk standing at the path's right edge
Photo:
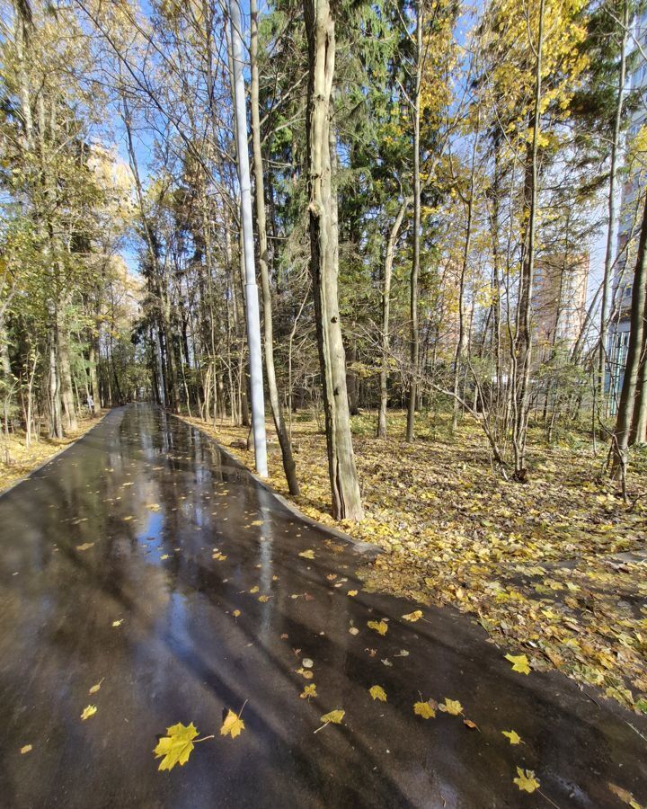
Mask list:
[[[337,205],[332,189],[331,93],[334,22],[328,0],[304,0],[308,43],[306,172],[310,216],[310,273],[315,298],[319,364],[323,381],[332,515],[361,520],[364,512],[350,436],[346,361],[339,314]],[[332,141],[332,143],[331,143]]]

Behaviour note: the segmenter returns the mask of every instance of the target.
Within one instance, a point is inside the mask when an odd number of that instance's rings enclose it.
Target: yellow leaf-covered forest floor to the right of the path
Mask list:
[[[301,511],[384,552],[360,572],[365,589],[473,613],[492,641],[527,653],[536,670],[556,668],[609,698],[647,713],[647,452],[636,459],[625,505],[589,441],[565,436],[530,451],[527,484],[491,466],[478,427],[418,417],[417,440],[375,438],[375,413],[353,418],[366,519],[330,516],[325,437],[314,413],[293,421]],[[232,447],[247,428],[188,419],[248,467],[253,452]],[[268,424],[269,438],[274,431]],[[289,497],[277,446],[270,484]],[[589,693],[589,692],[588,692]],[[596,701],[597,694],[589,697]]]

